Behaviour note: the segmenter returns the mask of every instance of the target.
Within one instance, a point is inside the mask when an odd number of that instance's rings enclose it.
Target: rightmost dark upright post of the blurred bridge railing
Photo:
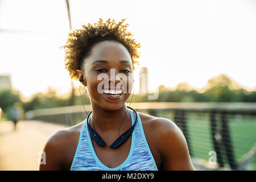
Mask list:
[[[228,116],[225,112],[221,113],[221,124],[222,124],[222,130],[221,130],[222,142],[226,150],[226,156],[228,158],[229,166],[230,168],[236,170],[237,164],[234,161],[232,141],[230,139],[230,134],[229,134]]]

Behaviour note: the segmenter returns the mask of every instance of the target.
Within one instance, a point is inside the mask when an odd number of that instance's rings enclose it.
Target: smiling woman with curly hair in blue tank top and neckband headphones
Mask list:
[[[124,20],[100,19],[69,34],[65,68],[85,86],[92,111],[84,122],[48,139],[40,170],[194,170],[174,122],[126,105],[141,46]],[[113,79],[113,73],[122,78]]]

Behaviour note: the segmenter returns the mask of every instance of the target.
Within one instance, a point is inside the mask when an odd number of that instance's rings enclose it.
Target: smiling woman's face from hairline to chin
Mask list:
[[[115,41],[95,44],[84,67],[92,105],[106,110],[120,109],[133,87],[133,63],[125,46]]]

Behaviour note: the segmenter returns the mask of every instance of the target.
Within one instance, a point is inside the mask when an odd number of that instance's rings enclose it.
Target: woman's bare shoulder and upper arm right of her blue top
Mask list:
[[[195,170],[186,139],[179,127],[167,118],[139,113],[143,127],[156,143],[163,170]]]

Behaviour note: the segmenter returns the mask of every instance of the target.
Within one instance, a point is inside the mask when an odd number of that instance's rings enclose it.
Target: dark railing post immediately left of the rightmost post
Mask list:
[[[213,147],[216,152],[217,162],[220,167],[224,167],[222,155],[221,155],[221,141],[217,138],[218,131],[217,131],[217,123],[216,123],[216,113],[214,111],[210,112],[210,129],[212,134],[213,140]]]

